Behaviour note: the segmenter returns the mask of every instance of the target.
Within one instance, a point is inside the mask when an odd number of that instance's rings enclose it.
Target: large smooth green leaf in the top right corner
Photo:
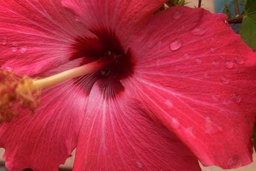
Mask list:
[[[247,0],[239,34],[248,46],[256,49],[256,0]]]

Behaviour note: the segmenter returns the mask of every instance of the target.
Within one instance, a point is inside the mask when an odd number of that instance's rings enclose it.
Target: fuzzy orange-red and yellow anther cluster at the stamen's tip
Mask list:
[[[30,91],[32,82],[30,77],[0,70],[0,124],[18,117],[22,109],[34,113],[39,106],[40,91]]]

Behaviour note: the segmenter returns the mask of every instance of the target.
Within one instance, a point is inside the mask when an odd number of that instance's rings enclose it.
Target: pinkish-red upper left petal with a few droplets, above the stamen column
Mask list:
[[[0,0],[0,66],[34,75],[68,62],[76,39],[101,44],[59,0]],[[93,41],[93,43],[92,43]]]

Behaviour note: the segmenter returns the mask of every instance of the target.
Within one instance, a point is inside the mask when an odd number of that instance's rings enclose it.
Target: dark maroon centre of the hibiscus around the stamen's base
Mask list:
[[[72,46],[75,53],[70,60],[83,58],[81,65],[107,56],[114,60],[101,71],[76,79],[75,83],[80,85],[88,94],[92,85],[96,83],[104,97],[114,98],[124,91],[122,80],[131,76],[133,72],[131,51],[125,52],[122,49],[113,32],[93,31],[93,33],[97,38],[77,37],[75,39],[76,43]],[[84,84],[86,84],[86,87]]]

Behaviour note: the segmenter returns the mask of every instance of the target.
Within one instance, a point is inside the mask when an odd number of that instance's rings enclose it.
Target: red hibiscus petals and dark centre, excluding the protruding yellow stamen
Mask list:
[[[164,2],[0,0],[2,70],[39,79],[89,68],[43,89],[34,115],[18,106],[0,124],[10,171],[56,171],[75,147],[74,171],[252,161],[256,53],[225,15],[153,15]]]

